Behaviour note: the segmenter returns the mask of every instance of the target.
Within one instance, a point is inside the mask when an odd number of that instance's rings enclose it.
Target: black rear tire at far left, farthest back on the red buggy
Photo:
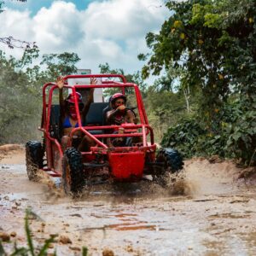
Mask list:
[[[29,180],[38,181],[38,169],[43,168],[44,148],[38,141],[26,143],[26,172]]]

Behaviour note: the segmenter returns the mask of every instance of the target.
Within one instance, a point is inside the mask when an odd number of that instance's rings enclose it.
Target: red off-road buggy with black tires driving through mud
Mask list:
[[[90,78],[96,78],[97,84],[90,84]],[[119,81],[116,81],[116,80]],[[172,148],[158,150],[154,143],[154,131],[148,125],[148,118],[143,106],[143,99],[137,84],[127,83],[125,77],[114,74],[68,75],[64,78],[65,90],[79,91],[86,99],[90,88],[119,91],[128,96],[137,114],[137,124],[106,125],[106,113],[111,108],[109,102],[104,102],[104,95],[97,95],[98,102],[90,104],[85,120],[79,115],[79,102],[75,96],[75,108],[79,127],[70,134],[69,147],[65,152],[61,149],[60,106],[54,103],[58,99],[59,89],[55,83],[44,84],[43,114],[39,130],[44,133],[43,143],[30,141],[26,143],[26,168],[30,180],[37,179],[38,169],[49,173],[52,177],[62,177],[66,193],[77,194],[84,186],[113,182],[137,182],[144,176],[152,180],[163,177],[166,172],[178,172],[183,168],[182,156]],[[78,83],[79,80],[79,83]],[[88,82],[89,81],[89,82]],[[88,95],[88,94],[87,94]],[[85,122],[85,123],[84,123]],[[85,124],[85,125],[82,125]],[[122,133],[113,132],[122,128]],[[88,152],[79,152],[73,147],[73,134],[82,131],[90,137],[95,146]],[[107,140],[113,138],[131,138],[129,145],[108,147]],[[139,138],[139,139],[134,139]]]

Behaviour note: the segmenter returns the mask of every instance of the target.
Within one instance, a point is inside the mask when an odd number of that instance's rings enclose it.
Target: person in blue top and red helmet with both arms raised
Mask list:
[[[74,128],[79,127],[78,117],[75,109],[75,99],[73,93],[69,94],[67,98],[63,99],[63,86],[64,86],[64,79],[59,77],[56,80],[56,84],[59,88],[59,101],[61,107],[61,124],[62,124],[62,131],[63,136],[61,137],[61,147],[64,151],[67,149],[68,142],[70,140],[70,133],[73,131]],[[96,79],[90,79],[90,84],[96,84]],[[90,103],[93,102],[93,92],[94,88],[90,89],[90,95],[88,97],[87,102],[84,104],[82,102],[82,96],[79,92],[76,92],[76,96],[79,103],[79,113],[82,121],[85,120],[85,116],[89,111]],[[73,147],[78,148],[80,151],[89,151],[90,147],[94,145],[92,139],[87,136],[84,136],[82,131],[76,131],[73,134]]]

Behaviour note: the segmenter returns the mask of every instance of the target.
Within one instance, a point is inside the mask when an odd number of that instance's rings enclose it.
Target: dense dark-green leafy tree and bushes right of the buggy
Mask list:
[[[139,55],[147,61],[143,78],[165,71],[191,112],[168,129],[162,145],[187,157],[219,154],[255,165],[255,1],[166,1],[166,6],[173,15],[160,32],[148,32],[151,52]],[[189,107],[192,99],[195,109]]]

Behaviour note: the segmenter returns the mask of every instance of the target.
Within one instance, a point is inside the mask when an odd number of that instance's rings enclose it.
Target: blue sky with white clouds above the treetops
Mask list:
[[[147,53],[145,37],[159,32],[170,11],[164,0],[6,0],[0,14],[0,37],[36,42],[40,54],[75,52],[79,68],[99,72],[108,62],[125,73],[141,70],[137,55]],[[20,57],[21,49],[0,50]]]

